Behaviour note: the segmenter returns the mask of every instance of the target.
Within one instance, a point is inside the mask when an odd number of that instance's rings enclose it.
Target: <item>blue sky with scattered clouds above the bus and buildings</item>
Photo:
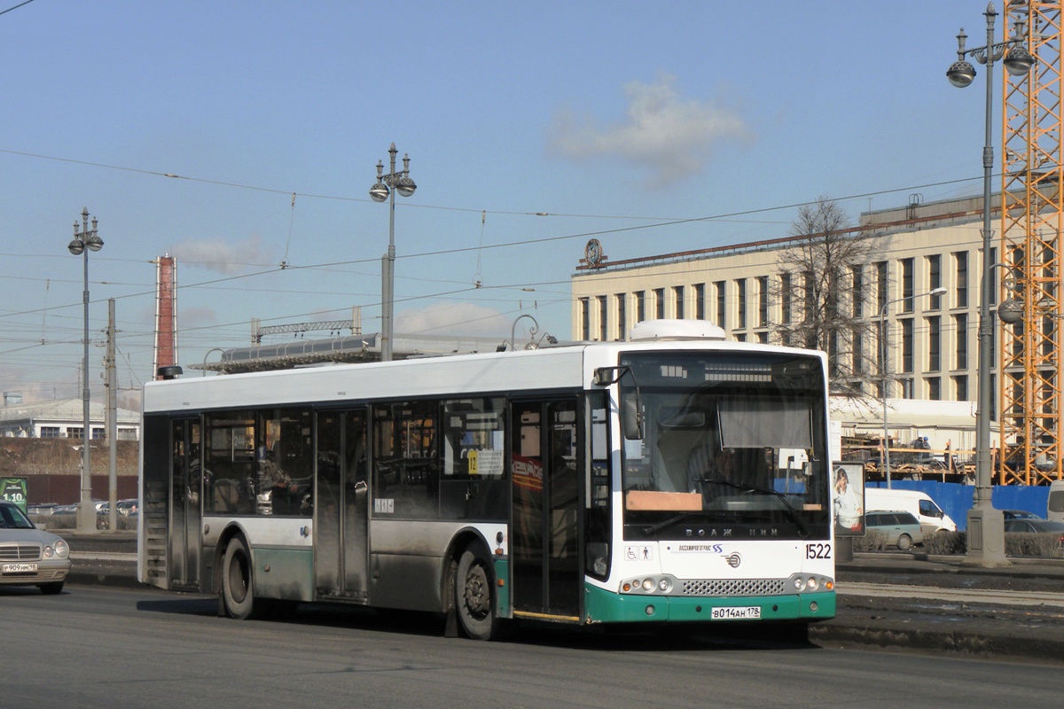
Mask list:
[[[820,198],[857,223],[980,193],[984,78],[945,72],[984,9],[0,0],[0,389],[81,395],[84,207],[95,400],[109,299],[120,402],[151,378],[162,255],[186,368],[252,319],[379,332],[393,142],[397,335],[567,339],[589,238],[620,260],[786,236]]]

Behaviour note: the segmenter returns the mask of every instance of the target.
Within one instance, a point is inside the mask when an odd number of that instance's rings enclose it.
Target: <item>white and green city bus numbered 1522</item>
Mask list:
[[[143,392],[140,581],[515,622],[835,614],[826,356],[629,341],[181,377]]]

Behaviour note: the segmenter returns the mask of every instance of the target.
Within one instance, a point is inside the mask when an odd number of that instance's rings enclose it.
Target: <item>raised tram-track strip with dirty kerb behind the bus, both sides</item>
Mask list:
[[[142,587],[133,534],[64,536],[69,584]],[[857,553],[836,563],[837,614],[811,626],[810,641],[1064,664],[1064,560],[1011,561],[982,569],[962,557]]]

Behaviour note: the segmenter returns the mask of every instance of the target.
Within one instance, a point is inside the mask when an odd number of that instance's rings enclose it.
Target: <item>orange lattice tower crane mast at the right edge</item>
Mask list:
[[[1045,485],[1061,479],[1064,471],[1064,2],[1005,0],[1004,11],[1007,38],[1016,38],[1019,31],[1036,62],[1023,77],[1001,72],[1004,137],[997,258],[1009,269],[1001,283],[1011,288],[1002,294],[1019,300],[1024,315],[1015,325],[998,327],[1003,455],[994,459],[994,476],[1001,485]]]

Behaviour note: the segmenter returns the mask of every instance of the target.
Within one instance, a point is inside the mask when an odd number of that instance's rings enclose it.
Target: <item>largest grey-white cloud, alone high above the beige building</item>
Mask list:
[[[629,83],[627,118],[611,125],[559,111],[549,133],[550,150],[573,161],[620,157],[647,169],[648,182],[663,187],[701,172],[714,147],[751,136],[736,112],[686,99],[675,85],[669,74],[649,85]]]

